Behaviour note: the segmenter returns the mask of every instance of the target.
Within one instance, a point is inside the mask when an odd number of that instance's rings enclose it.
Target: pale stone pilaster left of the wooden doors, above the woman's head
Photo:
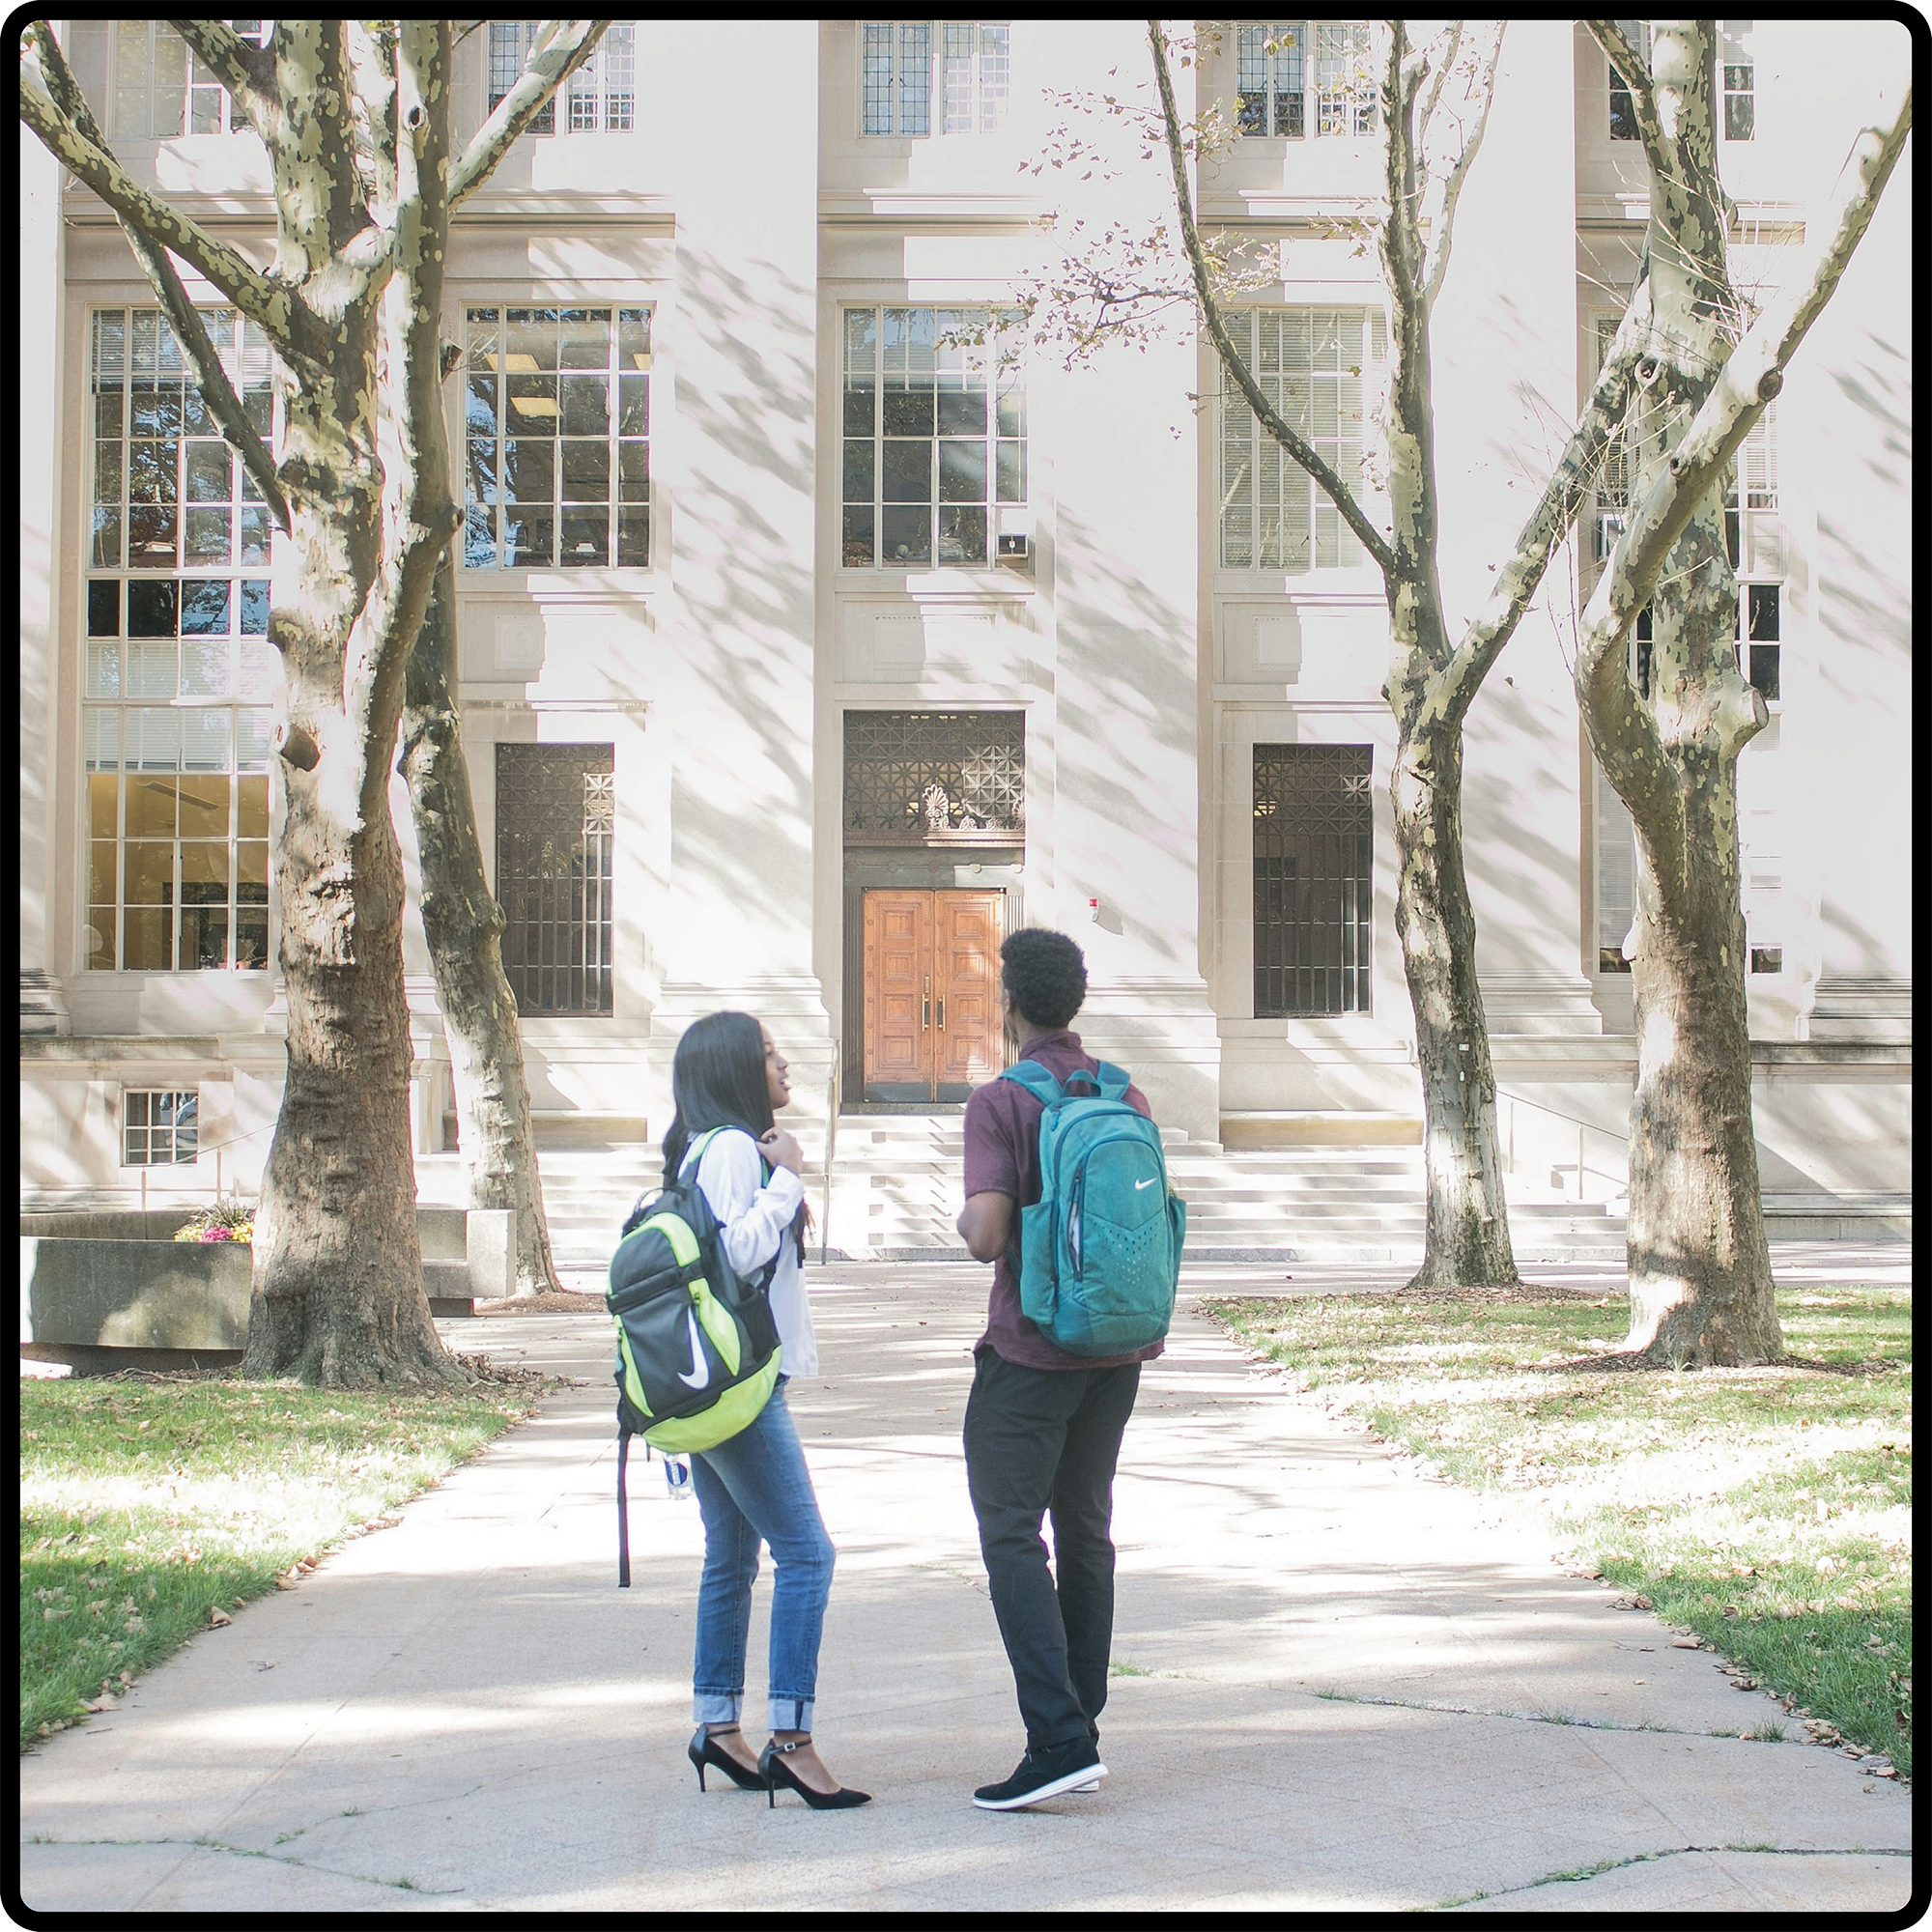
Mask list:
[[[717,71],[713,23],[651,33],[667,71]],[[755,137],[721,133],[713,91],[696,89],[663,149],[676,292],[653,396],[672,506],[653,719],[670,763],[668,879],[647,933],[661,970],[653,1128],[670,1122],[678,1037],[719,1007],[765,1020],[800,1107],[823,1113],[831,1068],[811,962],[817,21],[736,35],[730,71],[732,91],[759,102]]]

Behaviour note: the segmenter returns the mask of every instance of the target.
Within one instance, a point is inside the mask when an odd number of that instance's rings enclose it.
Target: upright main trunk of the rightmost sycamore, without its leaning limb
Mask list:
[[[1648,311],[1633,423],[1633,481],[1650,493],[1718,386],[1737,315],[1718,182],[1710,29],[1660,23],[1658,87],[1675,112],[1652,131],[1662,162],[1644,243]],[[1766,724],[1737,665],[1737,580],[1718,489],[1694,502],[1652,597],[1646,688],[1652,752],[1617,742],[1580,692],[1584,723],[1636,827],[1636,1092],[1631,1103],[1625,1349],[1658,1362],[1762,1362],[1783,1350],[1758,1198],[1750,1028],[1739,896],[1737,755]]]

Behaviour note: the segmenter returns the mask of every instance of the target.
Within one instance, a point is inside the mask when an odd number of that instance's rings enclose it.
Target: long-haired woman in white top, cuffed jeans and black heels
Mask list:
[[[709,1128],[697,1186],[719,1219],[724,1260],[740,1277],[777,1256],[771,1312],[779,1327],[781,1374],[757,1420],[715,1449],[692,1455],[692,1488],[705,1522],[705,1569],[697,1586],[697,1658],[692,1669],[688,1756],[703,1787],[705,1766],[746,1791],[796,1791],[813,1810],[864,1804],[842,1791],[811,1747],[811,1702],[819,1671],[819,1629],[833,1584],[833,1542],[819,1520],[811,1474],[784,1403],[794,1376],[815,1376],[817,1343],[800,1269],[806,1235],[804,1157],[775,1126],[773,1107],[792,1094],[771,1034],[748,1012],[711,1012],[678,1041],[670,1065],[676,1113],[665,1134],[665,1184],[686,1169],[692,1144]],[[752,1627],[757,1546],[771,1549],[771,1743],[753,1752],[738,1725],[744,1652]]]

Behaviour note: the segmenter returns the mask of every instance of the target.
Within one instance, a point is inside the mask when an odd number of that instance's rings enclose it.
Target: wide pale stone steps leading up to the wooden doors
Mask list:
[[[1227,1128],[1225,1128],[1227,1130]],[[1308,1128],[1321,1132],[1320,1124]],[[1374,1128],[1368,1128],[1374,1130]],[[1356,1121],[1337,1132],[1360,1134]],[[1163,1128],[1167,1171],[1188,1204],[1190,1260],[1416,1262],[1422,1258],[1422,1148],[1302,1140],[1293,1146],[1213,1146]],[[846,1113],[833,1150],[827,1215],[823,1144],[806,1140],[806,1200],[833,1254],[860,1260],[964,1256],[958,1113]],[[1242,1136],[1256,1138],[1256,1136]],[[659,1148],[641,1122],[537,1122],[537,1169],[562,1269],[611,1260],[638,1194],[659,1177]],[[458,1151],[417,1155],[423,1204],[462,1200]],[[1519,1262],[1621,1260],[1621,1204],[1578,1202],[1528,1177],[1509,1177],[1511,1240]]]

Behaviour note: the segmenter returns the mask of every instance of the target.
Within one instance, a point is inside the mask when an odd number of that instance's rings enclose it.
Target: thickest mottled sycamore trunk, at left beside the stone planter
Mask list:
[[[386,276],[352,280],[340,305],[317,288],[332,321],[327,355],[303,381],[280,384],[290,541],[276,560],[269,638],[288,680],[274,869],[288,1076],[263,1175],[242,1366],[325,1385],[448,1370],[415,1227],[402,852],[383,750],[396,742],[404,661],[456,527],[440,446],[412,446],[379,408],[384,375],[404,388],[421,383],[412,365],[425,346],[435,392],[440,350],[448,29],[410,39],[413,62],[365,106],[377,129],[394,128],[398,112],[423,118],[421,141],[392,149],[417,176],[417,245]],[[274,48],[286,79],[315,89],[284,85],[270,147],[276,261],[313,286],[340,272],[340,251],[367,232],[346,158],[354,126],[342,83],[354,56],[340,25],[321,21],[278,25]],[[423,87],[444,112],[427,112]],[[383,158],[377,176],[396,193]],[[419,400],[406,398],[404,413]]]

